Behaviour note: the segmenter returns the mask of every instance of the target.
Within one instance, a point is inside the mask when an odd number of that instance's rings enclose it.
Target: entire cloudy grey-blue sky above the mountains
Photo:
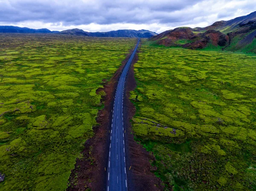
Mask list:
[[[161,33],[180,26],[205,27],[256,11],[256,0],[0,0],[0,25]]]

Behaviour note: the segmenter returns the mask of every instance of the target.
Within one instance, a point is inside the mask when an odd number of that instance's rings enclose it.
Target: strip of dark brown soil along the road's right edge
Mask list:
[[[137,51],[138,52],[138,51]],[[136,88],[134,78],[134,63],[138,60],[138,54],[135,55],[131,68],[129,70],[125,84],[124,101],[124,122],[125,122],[125,148],[126,165],[128,176],[128,190],[130,191],[161,191],[160,178],[157,178],[151,171],[156,170],[150,164],[154,160],[153,154],[149,153],[142,145],[134,141],[130,120],[135,114],[135,107],[129,100],[130,91]],[[129,168],[131,169],[129,170]]]

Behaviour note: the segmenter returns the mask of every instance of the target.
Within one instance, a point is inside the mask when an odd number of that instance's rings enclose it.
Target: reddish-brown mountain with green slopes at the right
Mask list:
[[[152,43],[183,48],[256,53],[256,11],[228,21],[217,21],[195,29],[179,27],[149,39]]]

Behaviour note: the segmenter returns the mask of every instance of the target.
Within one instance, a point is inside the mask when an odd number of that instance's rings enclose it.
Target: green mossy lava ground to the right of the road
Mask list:
[[[256,56],[144,43],[134,134],[166,190],[256,189]]]

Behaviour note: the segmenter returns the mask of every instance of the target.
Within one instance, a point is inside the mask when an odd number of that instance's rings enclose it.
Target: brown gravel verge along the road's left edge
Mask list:
[[[76,160],[75,168],[71,171],[69,182],[70,185],[67,191],[105,191],[106,190],[106,171],[108,162],[108,148],[109,148],[109,129],[111,108],[113,108],[113,96],[117,87],[119,76],[123,67],[129,60],[132,50],[127,54],[122,65],[113,75],[108,83],[102,81],[103,90],[106,95],[102,97],[104,108],[99,111],[96,119],[98,126],[93,127],[94,136],[84,143],[84,150],[81,151],[82,157]],[[97,92],[101,91],[99,88]]]

